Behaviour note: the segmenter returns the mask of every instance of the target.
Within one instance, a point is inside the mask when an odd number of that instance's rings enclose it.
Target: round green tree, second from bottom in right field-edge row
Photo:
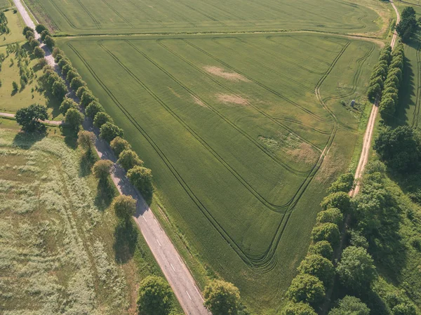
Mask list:
[[[325,288],[315,276],[298,274],[291,282],[286,296],[293,302],[306,302],[316,306],[323,301]]]

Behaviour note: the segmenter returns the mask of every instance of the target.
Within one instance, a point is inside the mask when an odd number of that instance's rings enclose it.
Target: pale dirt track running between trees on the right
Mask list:
[[[390,4],[392,4],[394,11],[396,13],[396,25],[398,25],[399,21],[401,20],[401,15],[399,15],[399,11],[394,5],[392,0],[390,0]],[[394,31],[394,34],[392,36],[392,41],[390,42],[390,46],[392,46],[392,48],[394,48],[395,46],[397,36],[398,34],[396,33],[396,31]],[[376,101],[375,104],[373,105],[373,109],[371,109],[370,117],[367,123],[366,133],[364,134],[364,138],[363,138],[363,150],[361,151],[359,163],[358,163],[358,166],[356,167],[356,172],[355,172],[356,186],[351,192],[349,192],[349,195],[352,197],[356,196],[356,194],[358,194],[359,189],[360,189],[360,183],[358,182],[358,180],[361,178],[361,176],[364,173],[364,170],[366,169],[368,156],[370,154],[371,140],[373,139],[373,129],[375,126],[375,119],[377,117],[378,112],[379,112],[379,104],[378,104],[378,101]]]

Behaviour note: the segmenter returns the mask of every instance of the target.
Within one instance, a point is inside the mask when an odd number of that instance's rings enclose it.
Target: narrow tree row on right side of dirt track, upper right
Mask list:
[[[383,86],[380,115],[385,121],[392,119],[398,105],[398,91],[402,81],[403,44],[399,43],[392,53],[392,60],[387,70],[387,78]]]

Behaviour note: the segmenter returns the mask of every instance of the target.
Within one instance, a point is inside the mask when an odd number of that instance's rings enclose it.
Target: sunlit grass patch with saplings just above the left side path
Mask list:
[[[52,95],[46,93],[46,91],[42,91],[39,86],[38,78],[42,76],[43,72],[36,65],[38,60],[30,56],[25,58],[29,62],[27,69],[32,69],[34,76],[29,79],[25,88],[22,88],[22,84],[20,83],[20,67],[18,66],[18,58],[15,53],[8,54],[6,47],[0,47],[0,53],[6,55],[6,60],[4,60],[0,72],[0,111],[13,113],[22,107],[41,104],[48,107],[51,120],[61,121],[63,116],[58,110],[60,104]],[[13,81],[18,83],[18,91],[13,91]]]

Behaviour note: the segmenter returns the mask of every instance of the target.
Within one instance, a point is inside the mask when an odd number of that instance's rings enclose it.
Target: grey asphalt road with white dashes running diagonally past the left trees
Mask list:
[[[20,0],[13,0],[15,6],[18,8],[20,15],[29,27],[35,28],[34,22],[29,18],[29,14],[25,5],[22,5]],[[39,38],[39,34],[36,34]],[[46,60],[49,65],[58,70],[51,55],[51,51],[45,46],[41,48],[46,51]],[[59,71],[58,71],[59,72]],[[60,72],[59,72],[60,74]],[[71,96],[74,97],[74,91],[71,91]],[[91,130],[95,133],[95,149],[101,159],[109,159],[114,162],[114,172],[112,173],[112,180],[119,189],[120,194],[131,195],[138,201],[137,211],[135,216],[136,224],[140,232],[145,237],[145,240],[151,249],[156,262],[162,269],[163,274],[166,276],[168,283],[178,298],[182,309],[189,315],[210,315],[210,313],[203,307],[203,297],[196,286],[192,274],[187,269],[185,262],[183,262],[180,254],[175,249],[173,243],[163,231],[161,225],[156,220],[154,213],[147,206],[147,203],[139,194],[137,189],[131,185],[126,177],[126,172],[116,163],[116,157],[110,149],[107,142],[98,137],[99,130],[93,127],[92,121],[86,119],[83,122],[83,128]]]

